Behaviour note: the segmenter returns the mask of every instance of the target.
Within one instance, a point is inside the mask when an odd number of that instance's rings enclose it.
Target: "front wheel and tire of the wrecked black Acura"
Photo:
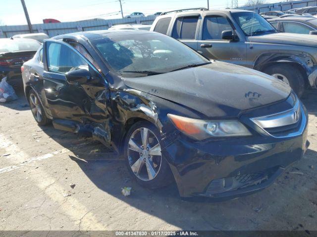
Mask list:
[[[124,157],[130,174],[143,187],[156,189],[173,180],[166,159],[161,154],[159,130],[150,122],[135,123],[128,131]]]

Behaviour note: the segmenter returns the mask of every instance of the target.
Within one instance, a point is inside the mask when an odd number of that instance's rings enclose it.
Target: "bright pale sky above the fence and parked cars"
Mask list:
[[[25,25],[21,0],[0,0],[0,25]],[[210,8],[228,7],[231,0],[209,0]],[[239,0],[244,5],[247,0]],[[32,24],[53,18],[61,22],[92,18],[120,18],[118,0],[25,0]],[[123,15],[134,11],[145,15],[180,8],[207,7],[207,0],[122,0]]]

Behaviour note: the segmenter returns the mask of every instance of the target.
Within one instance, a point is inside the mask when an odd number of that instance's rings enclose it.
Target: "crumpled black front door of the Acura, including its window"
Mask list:
[[[108,85],[98,70],[68,43],[47,40],[44,49],[43,94],[53,119],[107,122]],[[82,84],[68,83],[65,74],[77,69],[88,70],[92,77]]]

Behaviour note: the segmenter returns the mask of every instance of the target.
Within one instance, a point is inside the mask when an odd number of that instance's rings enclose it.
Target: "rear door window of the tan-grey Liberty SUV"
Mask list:
[[[174,39],[194,40],[199,16],[177,18],[172,37]]]

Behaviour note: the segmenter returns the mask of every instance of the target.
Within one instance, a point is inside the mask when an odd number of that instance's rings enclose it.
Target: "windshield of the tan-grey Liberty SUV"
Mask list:
[[[277,33],[277,31],[262,16],[255,12],[232,13],[246,36]]]

